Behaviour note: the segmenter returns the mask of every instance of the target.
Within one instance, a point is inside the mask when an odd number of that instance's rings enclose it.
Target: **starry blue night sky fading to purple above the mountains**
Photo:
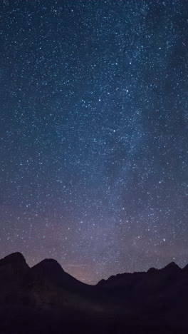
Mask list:
[[[188,263],[188,1],[0,1],[0,257]]]

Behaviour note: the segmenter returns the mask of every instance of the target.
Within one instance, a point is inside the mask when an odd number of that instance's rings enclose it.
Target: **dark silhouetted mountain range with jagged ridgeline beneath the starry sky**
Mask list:
[[[87,285],[56,260],[0,260],[0,334],[188,334],[188,267],[118,274]]]

